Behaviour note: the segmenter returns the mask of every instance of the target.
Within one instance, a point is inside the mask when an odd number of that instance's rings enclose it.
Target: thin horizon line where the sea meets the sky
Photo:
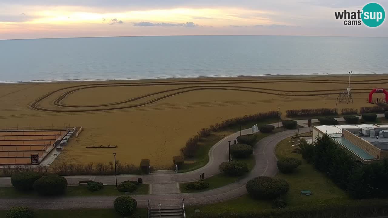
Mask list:
[[[5,40],[40,40],[40,39],[66,39],[66,38],[118,38],[118,37],[168,37],[168,36],[305,36],[305,35],[144,35],[144,36],[80,36],[80,37],[53,37],[53,38],[17,38]],[[305,37],[350,37],[350,38],[388,38],[388,36],[320,36],[312,35]]]

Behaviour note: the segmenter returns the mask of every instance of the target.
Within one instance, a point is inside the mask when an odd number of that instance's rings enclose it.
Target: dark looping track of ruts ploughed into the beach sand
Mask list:
[[[352,81],[354,84],[386,84],[388,79],[380,80],[356,80]],[[255,92],[269,95],[282,95],[282,96],[319,96],[319,95],[338,95],[341,89],[326,89],[326,90],[280,90],[271,88],[257,88],[249,86],[234,86],[233,84],[254,84],[254,83],[340,83],[347,84],[348,81],[330,81],[330,80],[309,80],[309,79],[251,79],[251,80],[194,80],[194,81],[170,81],[170,82],[126,82],[126,83],[90,83],[84,85],[76,85],[71,87],[64,87],[58,90],[54,90],[46,95],[34,100],[29,106],[39,111],[50,112],[91,112],[91,111],[110,111],[118,109],[127,109],[152,104],[162,99],[178,95],[181,93],[194,92],[199,90],[232,90],[242,92]],[[69,95],[75,94],[79,90],[100,88],[100,87],[138,87],[138,86],[163,86],[163,85],[185,85],[185,87],[166,89],[159,92],[153,92],[146,95],[141,95],[127,100],[119,102],[113,102],[109,104],[95,104],[95,105],[67,105],[62,101]],[[354,92],[357,90],[356,92]],[[64,92],[64,93],[62,93]],[[357,88],[353,89],[352,93],[369,93],[369,88]],[[42,106],[42,102],[48,100],[52,95],[59,95],[53,102],[49,102],[50,107]],[[148,98],[148,99],[146,99]],[[152,98],[152,99],[149,99]],[[140,101],[139,100],[144,100]],[[123,105],[126,103],[134,102],[131,105]],[[48,103],[48,102],[46,102]]]

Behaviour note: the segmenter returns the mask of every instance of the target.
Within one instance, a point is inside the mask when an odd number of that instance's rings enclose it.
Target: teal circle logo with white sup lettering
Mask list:
[[[385,19],[384,8],[378,3],[369,3],[362,8],[361,19],[369,27],[380,26]]]

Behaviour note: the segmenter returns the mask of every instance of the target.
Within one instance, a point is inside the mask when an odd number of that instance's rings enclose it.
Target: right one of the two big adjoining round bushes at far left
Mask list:
[[[68,187],[68,181],[63,176],[49,175],[34,182],[34,189],[44,196],[56,196],[63,194]]]

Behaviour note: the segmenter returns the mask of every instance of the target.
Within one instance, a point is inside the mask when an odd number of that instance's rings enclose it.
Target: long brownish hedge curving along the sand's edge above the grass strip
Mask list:
[[[214,125],[211,125],[208,128],[202,128],[200,131],[198,131],[197,135],[194,135],[193,137],[189,138],[185,146],[182,149],[180,149],[180,151],[186,157],[193,157],[198,149],[198,142],[200,142],[203,137],[210,135],[212,131],[219,131],[229,126],[237,125],[240,123],[246,123],[251,121],[259,122],[265,119],[277,118],[278,116],[279,116],[278,111],[269,111],[264,113],[236,117],[232,119],[227,119],[221,123],[215,123]]]

